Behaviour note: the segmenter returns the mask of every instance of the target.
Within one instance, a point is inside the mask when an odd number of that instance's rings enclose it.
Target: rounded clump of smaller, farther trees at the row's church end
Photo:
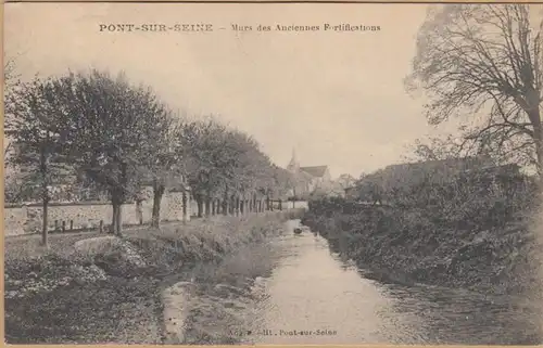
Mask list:
[[[228,203],[238,198],[250,198],[254,207],[256,193],[265,194],[275,183],[269,158],[240,130],[207,118],[184,125],[178,139],[200,217],[203,205],[210,212],[215,199],[223,202],[223,214],[227,214]]]

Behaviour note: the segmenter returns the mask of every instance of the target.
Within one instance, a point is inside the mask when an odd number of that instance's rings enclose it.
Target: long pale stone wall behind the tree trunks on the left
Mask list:
[[[188,206],[188,216],[195,211],[194,202]],[[153,211],[153,199],[149,198],[142,203],[143,222],[150,222]],[[17,235],[24,233],[36,233],[41,230],[42,208],[39,205],[7,207],[4,208],[4,235]],[[161,218],[164,221],[182,220],[182,194],[180,192],[164,195],[161,205]],[[48,224],[52,231],[62,227],[65,221],[66,229],[73,228],[90,229],[98,228],[100,220],[104,225],[111,224],[112,207],[108,203],[78,203],[78,204],[51,204],[48,209]],[[123,224],[138,224],[136,204],[123,205]]]

